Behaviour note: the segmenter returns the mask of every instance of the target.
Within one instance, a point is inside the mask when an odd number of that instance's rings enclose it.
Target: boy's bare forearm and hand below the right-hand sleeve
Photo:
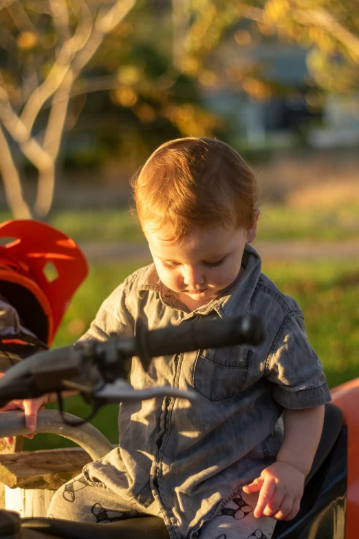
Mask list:
[[[324,405],[284,411],[284,440],[276,462],[243,491],[259,493],[254,516],[291,520],[299,511],[305,476],[312,467],[323,430]]]

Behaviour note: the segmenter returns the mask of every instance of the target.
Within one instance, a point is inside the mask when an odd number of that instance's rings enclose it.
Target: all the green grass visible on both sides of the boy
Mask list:
[[[96,314],[102,299],[138,264],[91,266],[58,332],[54,346],[72,344]],[[283,292],[292,295],[305,314],[307,335],[318,352],[330,387],[359,376],[359,261],[267,262],[263,271]],[[85,417],[89,407],[79,396],[67,399],[68,412]],[[118,439],[118,406],[103,408],[91,421],[112,443]],[[65,438],[38,434],[25,441],[28,450],[72,445]]]

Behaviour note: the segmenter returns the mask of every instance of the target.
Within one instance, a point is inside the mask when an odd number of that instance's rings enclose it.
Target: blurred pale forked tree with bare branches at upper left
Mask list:
[[[74,83],[135,0],[4,0],[1,17],[0,118],[22,153],[39,171],[34,214],[52,204],[55,163]],[[17,61],[14,61],[17,59]],[[36,120],[48,106],[43,129]],[[10,144],[0,126],[0,171],[8,205],[17,218],[30,217]]]

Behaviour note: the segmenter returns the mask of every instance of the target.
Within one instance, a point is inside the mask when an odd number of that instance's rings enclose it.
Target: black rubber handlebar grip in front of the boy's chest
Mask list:
[[[136,344],[142,357],[144,351],[147,357],[156,357],[200,348],[257,345],[264,336],[261,319],[252,316],[191,320],[151,331],[141,329]]]

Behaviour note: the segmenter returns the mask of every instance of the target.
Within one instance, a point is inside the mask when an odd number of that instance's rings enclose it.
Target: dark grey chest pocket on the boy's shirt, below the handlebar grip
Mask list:
[[[193,388],[210,401],[235,397],[246,381],[252,355],[243,346],[199,350]]]

